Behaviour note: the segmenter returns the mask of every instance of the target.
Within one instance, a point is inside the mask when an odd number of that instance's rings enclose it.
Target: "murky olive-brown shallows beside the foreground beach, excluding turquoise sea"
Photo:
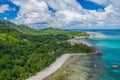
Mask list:
[[[99,80],[106,71],[102,63],[99,56],[73,56],[44,80]]]

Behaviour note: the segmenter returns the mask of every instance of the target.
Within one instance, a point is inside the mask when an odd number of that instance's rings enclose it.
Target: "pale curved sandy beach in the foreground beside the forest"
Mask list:
[[[29,77],[26,80],[43,80],[47,76],[53,74],[58,69],[62,67],[62,65],[72,56],[74,55],[84,55],[83,53],[80,54],[63,54],[56,59],[49,67],[45,68],[44,70],[38,72],[35,76]]]

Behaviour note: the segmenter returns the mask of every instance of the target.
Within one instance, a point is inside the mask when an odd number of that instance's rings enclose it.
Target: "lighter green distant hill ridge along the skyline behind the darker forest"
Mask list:
[[[86,32],[72,32],[72,31],[67,31],[67,30],[60,30],[60,29],[55,29],[55,28],[46,28],[42,30],[36,30],[36,29],[31,29],[28,26],[25,25],[16,25],[14,23],[11,23],[10,21],[6,20],[0,20],[0,26],[6,26],[10,28],[14,28],[18,30],[19,32],[22,32],[27,35],[34,35],[34,36],[40,36],[40,35],[66,35],[70,38],[72,37],[89,37],[89,34]]]

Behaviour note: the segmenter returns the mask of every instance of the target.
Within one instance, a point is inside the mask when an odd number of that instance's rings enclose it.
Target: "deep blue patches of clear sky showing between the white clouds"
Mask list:
[[[104,10],[105,6],[96,4],[94,2],[90,2],[90,1],[85,1],[85,0],[77,0],[79,2],[79,4],[81,4],[81,6],[84,9],[88,9],[88,10]],[[14,3],[12,3],[12,1],[10,0],[0,0],[0,6],[1,5],[9,5],[9,8],[11,10],[5,11],[5,13],[1,13],[0,14],[0,19],[4,19],[4,17],[7,17],[8,20],[10,19],[14,19],[15,17],[17,17],[18,11],[19,11],[19,6],[15,5]],[[12,10],[14,9],[14,10]],[[52,9],[51,7],[49,7],[49,10],[55,12],[56,10]]]

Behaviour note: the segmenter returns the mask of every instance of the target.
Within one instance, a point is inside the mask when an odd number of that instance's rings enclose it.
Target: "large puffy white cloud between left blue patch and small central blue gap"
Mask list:
[[[13,0],[14,3],[20,6],[20,11],[16,21],[18,23],[31,24],[37,22],[46,22],[50,14],[48,5],[44,1],[37,0]]]

